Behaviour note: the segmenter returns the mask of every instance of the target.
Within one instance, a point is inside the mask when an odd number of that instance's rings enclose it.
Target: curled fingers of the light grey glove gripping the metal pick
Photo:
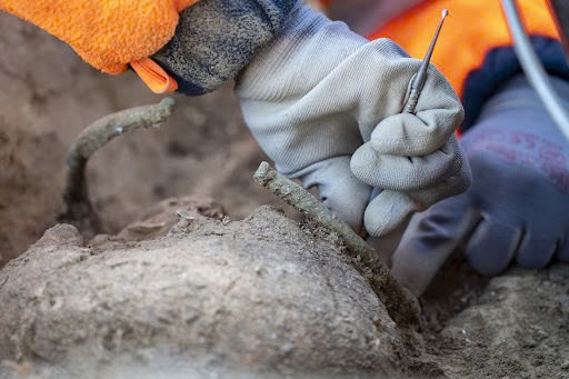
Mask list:
[[[471,182],[470,168],[456,136],[450,136],[447,143],[430,153],[421,152],[423,148],[432,149],[433,144],[429,144],[427,138],[425,147],[413,150],[411,140],[420,138],[421,133],[410,131],[413,127],[412,121],[397,120],[407,116],[409,114],[387,118],[376,129],[390,131],[407,121],[401,128],[405,130],[405,137],[397,142],[399,147],[386,149],[381,143],[375,143],[380,140],[375,137],[375,131],[371,141],[360,147],[351,159],[356,177],[382,189],[373,197],[365,212],[366,230],[371,237],[398,232],[397,229],[405,227],[413,212],[422,211],[441,199],[465,192]],[[419,128],[427,129],[428,123]]]

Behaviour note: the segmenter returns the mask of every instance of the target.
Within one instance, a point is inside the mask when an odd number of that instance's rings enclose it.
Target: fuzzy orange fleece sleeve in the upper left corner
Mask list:
[[[199,0],[0,0],[0,9],[69,43],[91,66],[121,73],[160,50],[178,13]]]

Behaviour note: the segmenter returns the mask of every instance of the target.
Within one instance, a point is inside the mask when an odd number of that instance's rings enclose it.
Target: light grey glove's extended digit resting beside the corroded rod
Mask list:
[[[371,187],[358,180],[350,170],[350,157],[335,157],[313,163],[293,177],[305,188],[318,187],[320,200],[356,232],[362,228],[363,211]]]

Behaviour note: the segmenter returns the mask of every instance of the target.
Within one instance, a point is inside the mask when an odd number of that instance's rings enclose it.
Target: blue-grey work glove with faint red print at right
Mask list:
[[[569,83],[552,80],[569,99]],[[487,276],[569,261],[569,143],[528,81],[510,80],[461,142],[473,184],[413,217],[392,257],[399,281],[421,295],[457,247]]]

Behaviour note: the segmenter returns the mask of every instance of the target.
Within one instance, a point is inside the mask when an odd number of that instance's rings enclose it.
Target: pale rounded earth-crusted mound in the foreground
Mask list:
[[[191,205],[169,237],[81,242],[58,226],[0,273],[0,359],[96,377],[117,356],[279,373],[397,373],[406,359],[341,249],[269,208],[231,222]]]

